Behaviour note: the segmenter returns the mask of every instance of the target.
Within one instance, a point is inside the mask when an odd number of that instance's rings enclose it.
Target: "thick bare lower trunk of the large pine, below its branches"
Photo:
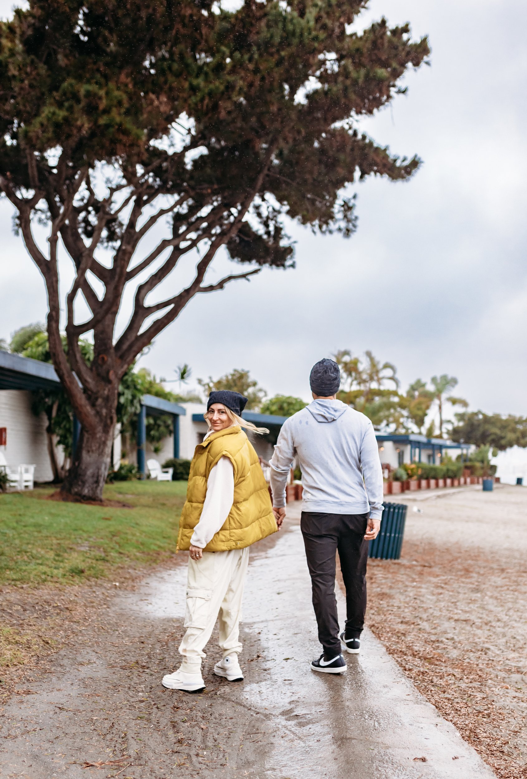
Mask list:
[[[80,432],[73,464],[62,485],[62,492],[81,500],[102,500],[102,491],[108,476],[111,446],[114,440],[115,419],[101,419],[96,432]]]

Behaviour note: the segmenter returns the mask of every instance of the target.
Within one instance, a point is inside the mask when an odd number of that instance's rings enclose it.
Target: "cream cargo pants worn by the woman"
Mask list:
[[[239,621],[242,610],[249,547],[228,552],[203,552],[189,559],[186,590],[186,633],[179,645],[185,664],[201,664],[203,649],[219,620],[223,657],[241,652]]]

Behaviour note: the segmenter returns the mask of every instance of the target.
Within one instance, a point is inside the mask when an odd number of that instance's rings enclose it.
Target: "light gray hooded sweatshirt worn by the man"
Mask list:
[[[341,400],[313,400],[282,425],[271,459],[273,506],[285,506],[295,455],[302,471],[302,511],[383,511],[383,473],[371,421]]]

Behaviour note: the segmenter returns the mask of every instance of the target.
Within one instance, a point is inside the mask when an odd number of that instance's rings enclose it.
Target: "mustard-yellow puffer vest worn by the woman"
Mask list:
[[[190,466],[186,503],[179,521],[178,549],[189,549],[207,495],[207,479],[221,457],[234,469],[234,502],[225,523],[205,552],[242,549],[278,530],[258,455],[239,425],[225,428],[198,444]]]

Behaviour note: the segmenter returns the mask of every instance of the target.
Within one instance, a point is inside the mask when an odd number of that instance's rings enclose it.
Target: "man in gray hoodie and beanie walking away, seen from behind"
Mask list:
[[[368,541],[377,538],[384,506],[383,474],[371,421],[336,400],[338,365],[320,360],[309,384],[313,403],[285,421],[271,459],[274,516],[285,518],[285,485],[295,455],[302,471],[302,520],[313,608],[323,653],[313,671],[346,670],[341,643],[351,654],[360,648],[366,612]],[[346,588],[346,625],[338,633],[335,556]],[[340,638],[340,640],[339,640]]]

